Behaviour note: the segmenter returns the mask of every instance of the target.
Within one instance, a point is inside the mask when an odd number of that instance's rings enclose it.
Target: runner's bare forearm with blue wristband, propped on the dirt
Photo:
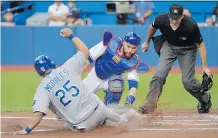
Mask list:
[[[29,120],[28,125],[21,131],[13,132],[14,135],[27,135],[29,134],[42,120],[42,112],[34,112]]]

